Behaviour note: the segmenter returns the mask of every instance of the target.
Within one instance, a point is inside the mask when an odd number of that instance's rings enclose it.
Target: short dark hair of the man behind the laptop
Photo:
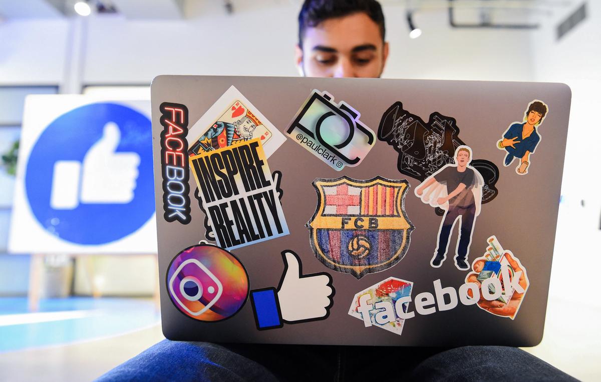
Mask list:
[[[305,37],[305,29],[314,28],[328,19],[363,12],[380,27],[382,41],[386,28],[382,6],[376,0],[305,0],[299,13],[299,47]]]

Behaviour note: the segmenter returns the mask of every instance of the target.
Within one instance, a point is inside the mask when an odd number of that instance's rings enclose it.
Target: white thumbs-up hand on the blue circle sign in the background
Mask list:
[[[72,210],[79,203],[126,204],[133,199],[140,157],[117,153],[121,132],[117,124],[105,125],[102,138],[85,154],[84,162],[57,161],[54,165],[50,206]]]

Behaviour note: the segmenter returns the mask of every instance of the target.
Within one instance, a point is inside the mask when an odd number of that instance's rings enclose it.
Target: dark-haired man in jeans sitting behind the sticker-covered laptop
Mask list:
[[[303,76],[379,77],[388,56],[384,35],[384,16],[376,0],[305,0],[299,14],[297,67]],[[443,380],[448,377],[474,381],[493,375],[495,380],[531,380],[535,375],[540,379],[573,380],[518,348],[463,347],[437,354],[440,351],[401,347],[216,345],[164,340],[98,381],[370,380],[374,375],[385,375],[388,369],[392,370],[393,379]],[[377,362],[383,359],[392,363]],[[527,364],[529,373],[516,374],[516,369],[511,367],[514,365],[507,362],[514,359]],[[401,362],[396,365],[395,360]],[[466,368],[465,365],[486,365],[486,373],[474,372],[477,366]]]

